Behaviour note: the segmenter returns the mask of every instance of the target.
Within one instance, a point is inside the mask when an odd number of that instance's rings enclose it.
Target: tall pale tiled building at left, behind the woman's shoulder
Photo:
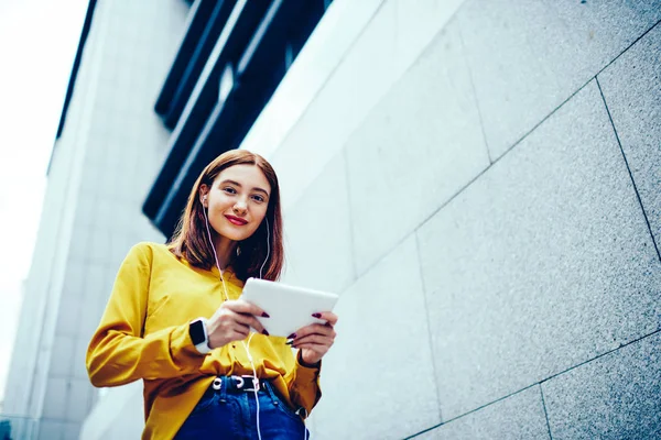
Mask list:
[[[137,241],[163,240],[140,207],[170,134],[152,102],[189,7],[147,0],[90,9],[8,376],[3,410],[14,416],[13,439],[78,438],[99,396],[85,352],[117,268]]]

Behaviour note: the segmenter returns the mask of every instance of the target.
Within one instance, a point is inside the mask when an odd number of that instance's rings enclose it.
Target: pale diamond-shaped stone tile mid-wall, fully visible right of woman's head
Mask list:
[[[358,275],[489,165],[451,23],[347,143]]]

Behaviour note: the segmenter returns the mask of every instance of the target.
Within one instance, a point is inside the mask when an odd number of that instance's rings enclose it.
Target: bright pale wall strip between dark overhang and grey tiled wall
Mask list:
[[[292,65],[283,84],[260,114],[246,142],[248,150],[267,152],[289,208],[305,191],[364,122],[371,109],[420,57],[464,0],[335,0]],[[360,32],[357,21],[366,19]],[[323,30],[330,30],[324,32]],[[335,29],[339,35],[335,35]],[[319,32],[322,30],[322,32]],[[347,35],[355,35],[348,46]],[[338,47],[348,47],[337,62]],[[328,47],[326,50],[325,47]],[[301,69],[310,72],[301,78]],[[332,72],[328,72],[332,70]],[[291,78],[288,77],[294,74]],[[308,81],[328,75],[310,102],[302,102]],[[294,82],[295,81],[295,82]],[[289,85],[285,85],[288,84]],[[294,82],[292,87],[291,84]],[[318,84],[318,82],[317,82]],[[301,109],[301,107],[304,109]],[[299,111],[302,113],[299,116]],[[293,127],[273,113],[294,114]],[[278,124],[278,134],[268,125]],[[266,127],[264,127],[266,125]],[[263,135],[263,138],[261,138]],[[254,142],[261,138],[263,141]],[[272,153],[271,153],[272,152]],[[305,156],[305,166],[300,166]]]

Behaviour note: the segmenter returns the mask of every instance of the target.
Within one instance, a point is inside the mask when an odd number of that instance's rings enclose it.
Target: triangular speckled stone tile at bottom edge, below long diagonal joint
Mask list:
[[[538,385],[414,438],[550,440],[542,394]]]

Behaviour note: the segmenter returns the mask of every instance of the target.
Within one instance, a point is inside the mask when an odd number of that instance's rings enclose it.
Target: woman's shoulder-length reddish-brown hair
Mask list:
[[[245,282],[250,277],[259,277],[260,268],[263,265],[262,278],[277,280],[280,278],[284,265],[278,176],[275,176],[273,167],[267,160],[246,150],[230,150],[223,153],[204,168],[188,195],[186,209],[178,221],[172,240],[167,243],[167,248],[173,254],[185,258],[193,266],[210,270],[216,265],[214,250],[207,234],[199,187],[203,184],[212,187],[220,172],[235,165],[258,166],[267,177],[269,185],[271,185],[271,195],[269,196],[264,221],[251,237],[241,241],[241,253],[234,257],[231,267],[236,276]],[[269,228],[268,233],[267,224]],[[269,238],[268,244],[267,237]]]

